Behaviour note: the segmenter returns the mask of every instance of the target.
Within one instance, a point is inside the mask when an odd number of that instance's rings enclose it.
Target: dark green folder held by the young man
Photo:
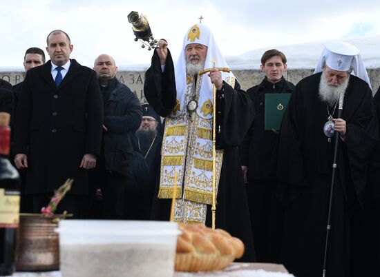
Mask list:
[[[265,94],[265,130],[280,130],[281,121],[289,102],[289,93]]]

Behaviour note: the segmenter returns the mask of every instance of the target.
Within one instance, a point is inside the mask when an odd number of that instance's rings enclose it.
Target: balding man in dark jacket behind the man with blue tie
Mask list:
[[[124,213],[124,196],[126,204],[138,198],[135,187],[128,183],[133,158],[131,135],[140,126],[142,109],[137,96],[115,77],[117,66],[111,56],[99,55],[94,70],[104,101],[102,151],[94,172],[98,184],[95,187],[102,191],[106,218],[131,219],[133,214]]]

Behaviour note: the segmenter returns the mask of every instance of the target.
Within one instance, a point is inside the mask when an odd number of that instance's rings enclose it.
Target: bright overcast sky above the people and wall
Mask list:
[[[102,53],[111,54],[121,68],[149,64],[152,53],[133,40],[127,19],[132,10],[146,14],[153,35],[167,39],[174,59],[185,32],[200,15],[225,56],[380,35],[379,0],[0,0],[0,4],[0,68],[22,66],[25,50],[44,49],[47,34],[55,29],[69,34],[74,45],[70,57],[82,65],[92,67]]]

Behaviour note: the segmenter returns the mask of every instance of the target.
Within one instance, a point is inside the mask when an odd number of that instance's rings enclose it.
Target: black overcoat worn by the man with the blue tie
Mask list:
[[[57,88],[51,62],[28,70],[17,105],[15,154],[28,155],[26,194],[52,193],[66,178],[70,194],[87,195],[84,154],[100,152],[103,102],[93,70],[70,60]]]

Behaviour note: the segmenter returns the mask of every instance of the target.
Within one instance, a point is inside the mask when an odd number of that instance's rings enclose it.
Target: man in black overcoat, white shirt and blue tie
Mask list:
[[[88,213],[88,174],[100,152],[102,95],[96,74],[69,59],[73,45],[66,32],[46,39],[50,61],[28,70],[17,105],[14,153],[18,169],[26,169],[29,212],[39,212],[55,189],[74,178],[58,212],[77,218]]]

